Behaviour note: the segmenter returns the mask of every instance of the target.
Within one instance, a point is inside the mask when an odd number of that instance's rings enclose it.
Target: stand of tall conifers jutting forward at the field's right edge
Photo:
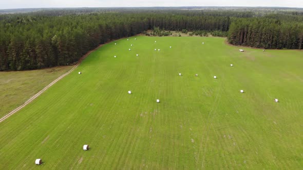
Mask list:
[[[303,23],[272,18],[237,18],[229,30],[233,45],[266,49],[303,49]]]

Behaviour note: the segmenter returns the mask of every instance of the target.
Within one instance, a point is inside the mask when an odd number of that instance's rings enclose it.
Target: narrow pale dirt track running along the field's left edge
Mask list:
[[[97,50],[98,48],[100,48],[103,45],[98,46],[96,49],[93,49],[91,51],[89,51],[88,53],[86,53],[83,57],[80,58],[80,60],[78,61],[77,65],[75,65],[71,70],[69,70],[67,73],[63,74],[62,76],[58,77],[57,79],[55,79],[53,82],[51,82],[50,84],[48,84],[44,89],[42,89],[40,92],[38,92],[37,94],[35,94],[34,96],[32,96],[31,98],[29,98],[25,103],[23,103],[22,105],[20,105],[20,107],[14,109],[13,111],[11,111],[10,113],[8,113],[7,115],[3,116],[0,119],[0,123],[2,121],[4,121],[5,119],[9,118],[11,115],[15,114],[16,112],[20,111],[22,108],[24,108],[27,104],[29,104],[31,101],[33,101],[35,98],[39,97],[44,91],[46,91],[48,88],[50,88],[54,83],[56,83],[57,81],[61,80],[63,77],[65,77],[66,75],[68,75],[69,73],[71,73],[74,69],[76,69],[80,63],[82,62],[82,60],[87,57],[91,52]]]

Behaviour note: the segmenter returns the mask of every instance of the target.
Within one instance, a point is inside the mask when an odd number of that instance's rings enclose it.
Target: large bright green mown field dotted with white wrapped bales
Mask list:
[[[91,53],[0,123],[0,169],[303,167],[302,51],[136,38]]]

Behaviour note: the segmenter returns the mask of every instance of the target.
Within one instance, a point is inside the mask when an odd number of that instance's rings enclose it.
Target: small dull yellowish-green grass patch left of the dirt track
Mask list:
[[[0,72],[0,118],[23,104],[72,66],[51,69]]]

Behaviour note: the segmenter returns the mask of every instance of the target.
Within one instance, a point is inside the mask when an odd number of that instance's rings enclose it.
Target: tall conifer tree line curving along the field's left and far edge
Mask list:
[[[228,17],[155,13],[8,15],[0,22],[0,70],[71,65],[112,39],[160,27],[166,30],[228,30]]]

